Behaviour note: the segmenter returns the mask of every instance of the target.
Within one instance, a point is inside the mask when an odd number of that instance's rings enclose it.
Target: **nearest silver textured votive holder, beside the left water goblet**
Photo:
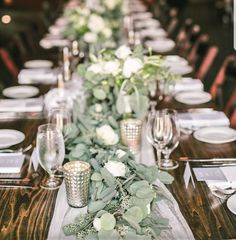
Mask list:
[[[88,190],[91,168],[83,161],[71,161],[63,166],[67,202],[71,207],[88,205]]]

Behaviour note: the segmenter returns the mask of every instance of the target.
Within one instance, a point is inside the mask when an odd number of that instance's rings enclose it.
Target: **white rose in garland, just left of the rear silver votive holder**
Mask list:
[[[115,145],[119,142],[119,137],[110,125],[103,125],[96,128],[97,138],[102,140],[105,145]]]

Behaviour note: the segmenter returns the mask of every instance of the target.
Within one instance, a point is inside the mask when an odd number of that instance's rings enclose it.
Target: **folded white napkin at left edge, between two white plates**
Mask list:
[[[41,112],[43,98],[1,99],[0,112]]]

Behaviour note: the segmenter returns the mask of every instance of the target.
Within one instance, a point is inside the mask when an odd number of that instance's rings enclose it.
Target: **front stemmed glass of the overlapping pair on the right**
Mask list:
[[[173,125],[170,112],[168,109],[150,113],[148,116],[146,136],[156,151],[159,169],[168,169],[161,161],[161,154],[165,146],[173,138]]]

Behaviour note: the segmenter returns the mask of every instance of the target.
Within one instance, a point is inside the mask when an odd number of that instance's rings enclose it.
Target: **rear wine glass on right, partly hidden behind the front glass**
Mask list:
[[[171,140],[162,150],[162,153],[164,155],[164,159],[162,160],[162,166],[164,166],[165,169],[172,170],[172,169],[176,169],[179,166],[177,161],[170,159],[170,154],[179,145],[180,127],[179,127],[177,112],[175,110],[169,109],[168,113],[170,114],[170,118],[172,121],[173,134],[172,134]]]

